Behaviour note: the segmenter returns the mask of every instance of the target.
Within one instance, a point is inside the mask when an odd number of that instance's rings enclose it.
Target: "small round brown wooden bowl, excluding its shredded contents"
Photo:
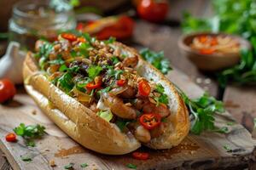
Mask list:
[[[226,67],[236,65],[240,61],[240,53],[216,53],[216,54],[200,54],[196,49],[190,48],[194,37],[198,36],[228,36],[236,39],[241,48],[251,48],[250,42],[247,40],[224,33],[211,33],[211,32],[201,32],[189,35],[184,35],[178,40],[178,47],[183,55],[188,57],[200,70],[203,71],[218,71]]]

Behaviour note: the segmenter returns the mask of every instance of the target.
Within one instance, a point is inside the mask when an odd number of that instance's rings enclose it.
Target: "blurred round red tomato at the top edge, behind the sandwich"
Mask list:
[[[137,13],[144,20],[160,22],[166,19],[169,4],[166,0],[141,0],[137,5]]]

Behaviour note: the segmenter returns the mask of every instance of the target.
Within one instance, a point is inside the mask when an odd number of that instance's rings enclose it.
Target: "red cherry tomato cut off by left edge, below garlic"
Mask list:
[[[16,88],[9,79],[0,80],[0,103],[12,99],[16,94]]]

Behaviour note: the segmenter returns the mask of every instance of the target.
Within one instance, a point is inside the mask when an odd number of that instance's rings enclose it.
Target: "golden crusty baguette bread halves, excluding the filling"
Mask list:
[[[189,133],[189,114],[183,100],[177,94],[172,82],[157,71],[154,66],[144,61],[133,48],[116,42],[115,48],[120,48],[128,55],[137,55],[139,75],[154,82],[161,83],[169,96],[171,116],[167,118],[168,128],[159,138],[152,139],[147,145],[153,149],[169,149],[179,144]],[[84,147],[108,155],[122,155],[137,150],[141,144],[129,133],[121,133],[115,124],[106,122],[96,113],[56,88],[47,78],[38,73],[38,66],[28,53],[24,61],[23,77],[28,94],[38,106],[71,138]]]

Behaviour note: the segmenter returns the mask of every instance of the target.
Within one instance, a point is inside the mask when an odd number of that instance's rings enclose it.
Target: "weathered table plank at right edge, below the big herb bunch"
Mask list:
[[[224,92],[224,102],[236,121],[256,137],[256,131],[253,128],[253,119],[256,117],[256,89],[246,86],[228,86]]]

